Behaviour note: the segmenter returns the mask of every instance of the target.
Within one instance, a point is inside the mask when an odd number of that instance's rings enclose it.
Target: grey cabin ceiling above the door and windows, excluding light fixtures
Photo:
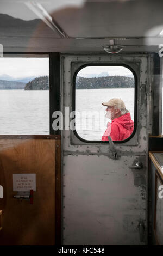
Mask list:
[[[109,39],[123,52],[158,52],[162,0],[38,0],[67,37],[49,28],[27,3],[0,0],[4,52],[104,52]]]

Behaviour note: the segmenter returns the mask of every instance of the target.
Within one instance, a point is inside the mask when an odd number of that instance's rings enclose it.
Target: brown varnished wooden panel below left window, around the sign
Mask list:
[[[54,245],[55,243],[55,143],[53,139],[4,140],[0,147],[0,199],[3,210],[1,245]],[[35,173],[33,205],[15,199],[12,174]]]

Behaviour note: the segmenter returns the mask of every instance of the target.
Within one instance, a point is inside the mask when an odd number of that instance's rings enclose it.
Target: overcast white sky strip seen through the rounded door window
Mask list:
[[[131,76],[133,73],[124,66],[87,66],[78,72],[78,76],[101,74],[107,72],[110,76]]]

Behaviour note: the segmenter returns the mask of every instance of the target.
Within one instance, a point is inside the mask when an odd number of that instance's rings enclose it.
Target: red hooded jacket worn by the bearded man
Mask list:
[[[133,133],[133,129],[134,122],[131,120],[131,115],[130,113],[126,113],[109,123],[102,136],[102,141],[108,141],[108,136],[111,136],[112,141],[123,141],[130,137],[131,133]]]

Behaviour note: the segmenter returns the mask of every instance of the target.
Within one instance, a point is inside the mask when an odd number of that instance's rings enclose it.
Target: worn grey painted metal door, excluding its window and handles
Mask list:
[[[81,63],[128,64],[138,77],[137,130],[130,141],[115,145],[118,160],[112,159],[108,144],[84,143],[71,131],[62,131],[64,245],[147,243],[149,60],[147,55],[61,57],[62,111],[65,106],[72,109],[72,76]],[[142,162],[143,168],[129,169],[136,162]],[[143,242],[139,235],[142,222]]]

